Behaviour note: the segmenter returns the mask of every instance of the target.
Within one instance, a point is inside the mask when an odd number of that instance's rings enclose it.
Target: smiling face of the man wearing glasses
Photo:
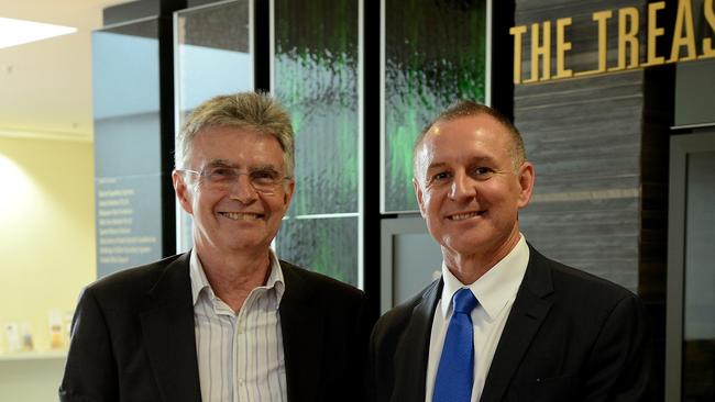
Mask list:
[[[270,134],[235,126],[209,126],[197,134],[187,169],[227,167],[242,172],[270,170],[285,176],[283,149]],[[271,245],[288,210],[294,182],[256,191],[249,175],[230,186],[212,186],[205,177],[175,172],[182,208],[194,217],[194,244],[205,253],[262,249]]]

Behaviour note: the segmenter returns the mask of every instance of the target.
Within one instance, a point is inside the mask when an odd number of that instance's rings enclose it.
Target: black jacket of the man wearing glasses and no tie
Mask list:
[[[364,293],[285,261],[280,267],[288,400],[358,401],[370,333]],[[82,291],[59,399],[201,400],[188,254]]]

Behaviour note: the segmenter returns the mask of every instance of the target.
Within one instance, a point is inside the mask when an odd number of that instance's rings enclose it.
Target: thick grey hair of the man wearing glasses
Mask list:
[[[191,156],[194,139],[212,126],[246,129],[272,135],[280,144],[286,176],[295,168],[294,132],[288,112],[273,97],[263,92],[239,92],[218,96],[201,103],[191,112],[176,142],[180,154],[174,156],[176,168],[185,168]]]

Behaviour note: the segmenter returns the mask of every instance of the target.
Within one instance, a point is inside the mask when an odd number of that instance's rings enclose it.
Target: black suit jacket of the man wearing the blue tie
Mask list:
[[[649,364],[635,294],[529,247],[482,402],[639,401]],[[373,401],[425,401],[438,280],[383,315],[371,338]]]

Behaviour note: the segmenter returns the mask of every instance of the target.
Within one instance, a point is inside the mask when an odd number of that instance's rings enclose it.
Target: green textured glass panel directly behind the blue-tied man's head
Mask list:
[[[384,209],[416,211],[417,135],[453,101],[485,101],[486,1],[384,1]]]

